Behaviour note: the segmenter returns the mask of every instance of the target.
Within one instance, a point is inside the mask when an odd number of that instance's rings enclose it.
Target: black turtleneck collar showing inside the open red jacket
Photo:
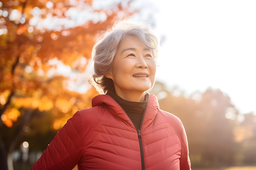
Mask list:
[[[128,117],[131,119],[135,125],[135,128],[139,129],[148,102],[148,93],[146,93],[145,101],[143,102],[130,102],[128,100],[122,99],[112,91],[109,91],[107,95],[110,95],[113,99],[115,99],[115,101],[124,109]]]

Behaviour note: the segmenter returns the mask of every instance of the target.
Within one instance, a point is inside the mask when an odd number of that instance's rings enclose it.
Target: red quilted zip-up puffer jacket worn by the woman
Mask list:
[[[148,97],[141,129],[109,95],[92,99],[56,134],[31,170],[190,170],[180,119]]]

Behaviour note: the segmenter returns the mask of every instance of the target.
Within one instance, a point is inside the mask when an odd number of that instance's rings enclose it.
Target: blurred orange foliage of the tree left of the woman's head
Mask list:
[[[95,11],[92,2],[2,1],[0,10],[6,10],[8,16],[0,14],[0,30],[7,29],[7,33],[0,35],[0,116],[6,126],[11,127],[22,115],[20,108],[24,108],[52,113],[53,128],[58,129],[74,112],[91,106],[92,97],[98,93],[94,89],[89,89],[86,95],[70,91],[67,88],[70,77],[65,71],[84,74],[101,30],[119,19],[114,8]],[[116,6],[115,9],[130,15],[128,9]],[[49,15],[58,18],[56,21],[66,19],[71,23],[71,18],[65,15],[70,8],[103,12],[106,20],[97,23],[88,20],[70,28],[64,24],[51,29],[43,26],[43,20]],[[11,18],[14,10],[18,14]],[[36,16],[39,16],[37,20]],[[58,71],[60,65],[65,66],[63,71]]]

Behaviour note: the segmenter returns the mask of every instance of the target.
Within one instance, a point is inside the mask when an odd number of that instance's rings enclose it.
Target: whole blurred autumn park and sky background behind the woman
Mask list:
[[[256,169],[253,0],[0,0],[0,169],[29,170],[91,107],[95,40],[120,18],[159,36],[160,108],[180,117],[193,170]]]

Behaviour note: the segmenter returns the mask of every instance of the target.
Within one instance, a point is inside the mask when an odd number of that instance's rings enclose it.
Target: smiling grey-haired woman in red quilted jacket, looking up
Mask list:
[[[92,50],[102,93],[56,134],[31,170],[190,170],[180,119],[159,109],[158,39],[146,23],[116,22]]]

